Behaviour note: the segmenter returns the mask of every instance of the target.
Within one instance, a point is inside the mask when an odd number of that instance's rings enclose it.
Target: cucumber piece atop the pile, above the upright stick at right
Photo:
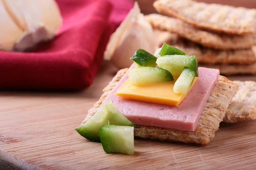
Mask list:
[[[157,65],[174,76],[179,76],[184,67],[188,67],[195,71],[195,77],[198,77],[198,62],[195,55],[166,55],[157,59]]]

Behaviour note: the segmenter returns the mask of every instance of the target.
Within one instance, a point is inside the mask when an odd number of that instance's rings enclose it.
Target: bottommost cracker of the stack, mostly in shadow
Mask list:
[[[256,64],[251,65],[204,65],[198,64],[199,67],[219,69],[222,75],[252,74],[256,75]]]

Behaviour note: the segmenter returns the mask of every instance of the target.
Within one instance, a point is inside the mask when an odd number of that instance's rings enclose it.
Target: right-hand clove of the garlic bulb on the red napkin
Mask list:
[[[14,51],[32,48],[38,42],[54,37],[61,27],[62,17],[54,0],[3,0],[23,34],[14,44]]]

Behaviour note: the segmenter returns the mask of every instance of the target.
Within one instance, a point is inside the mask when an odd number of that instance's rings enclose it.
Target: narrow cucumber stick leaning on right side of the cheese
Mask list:
[[[193,80],[195,78],[195,71],[191,68],[185,67],[180,77],[176,80],[173,92],[178,94],[186,94],[191,87]]]

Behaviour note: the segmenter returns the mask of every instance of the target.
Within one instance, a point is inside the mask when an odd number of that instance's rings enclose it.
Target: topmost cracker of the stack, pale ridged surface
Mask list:
[[[256,29],[256,9],[198,3],[194,0],[157,0],[154,7],[160,13],[198,28],[227,34],[254,33]]]

